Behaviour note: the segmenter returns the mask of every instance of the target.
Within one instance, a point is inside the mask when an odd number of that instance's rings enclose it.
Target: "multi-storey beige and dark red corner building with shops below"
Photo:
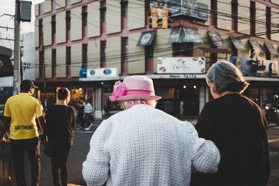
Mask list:
[[[164,6],[172,29],[160,25]],[[157,29],[149,29],[152,7]],[[36,83],[49,104],[67,86],[73,103],[89,99],[102,118],[115,81],[146,75],[159,109],[176,115],[183,102],[183,115],[197,116],[211,99],[206,71],[221,60],[246,75],[245,94],[260,107],[279,93],[277,1],[51,0],[35,12]]]

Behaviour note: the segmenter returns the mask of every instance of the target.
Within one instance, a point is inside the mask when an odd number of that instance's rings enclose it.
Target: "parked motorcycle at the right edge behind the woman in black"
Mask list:
[[[273,95],[273,103],[267,103],[264,107],[266,121],[270,123],[276,123],[279,125],[279,96]]]

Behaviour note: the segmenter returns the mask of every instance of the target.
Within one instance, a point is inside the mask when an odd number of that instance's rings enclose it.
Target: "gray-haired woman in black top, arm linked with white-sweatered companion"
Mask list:
[[[206,74],[213,100],[198,118],[199,137],[220,150],[218,172],[194,173],[193,185],[263,186],[269,180],[268,124],[258,105],[242,95],[248,82],[235,65],[220,61]]]

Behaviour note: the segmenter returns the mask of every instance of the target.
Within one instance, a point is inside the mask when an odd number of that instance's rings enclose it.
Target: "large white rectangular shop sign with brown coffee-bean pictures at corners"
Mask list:
[[[158,57],[158,74],[203,74],[205,57]]]

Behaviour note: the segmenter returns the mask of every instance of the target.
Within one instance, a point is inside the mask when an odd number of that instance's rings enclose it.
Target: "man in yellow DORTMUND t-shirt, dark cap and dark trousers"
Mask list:
[[[4,126],[1,127],[1,143],[10,129],[10,149],[12,152],[13,169],[18,186],[26,186],[24,176],[24,153],[27,151],[31,163],[31,185],[39,185],[40,180],[40,143],[36,118],[41,130],[45,125],[45,118],[40,102],[32,95],[34,88],[38,88],[29,79],[20,84],[20,93],[8,98],[4,111]],[[43,135],[45,141],[45,135]]]

